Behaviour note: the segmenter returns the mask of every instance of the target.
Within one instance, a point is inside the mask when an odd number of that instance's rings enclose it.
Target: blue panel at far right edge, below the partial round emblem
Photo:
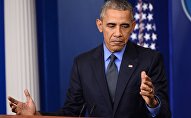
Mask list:
[[[169,5],[172,112],[174,118],[188,118],[191,106],[191,19],[189,20],[191,2],[190,0],[170,0]],[[183,9],[184,5],[189,7]]]

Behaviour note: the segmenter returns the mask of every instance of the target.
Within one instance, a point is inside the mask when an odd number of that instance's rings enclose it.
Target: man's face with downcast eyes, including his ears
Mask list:
[[[99,31],[103,32],[106,47],[111,52],[123,49],[135,27],[129,10],[107,9],[104,17],[97,19],[96,23]]]

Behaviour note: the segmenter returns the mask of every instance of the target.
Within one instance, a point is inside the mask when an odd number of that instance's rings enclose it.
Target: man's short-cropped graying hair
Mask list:
[[[107,9],[114,9],[120,11],[129,10],[131,12],[132,20],[134,20],[133,7],[127,0],[108,0],[101,8],[100,19],[103,19]]]

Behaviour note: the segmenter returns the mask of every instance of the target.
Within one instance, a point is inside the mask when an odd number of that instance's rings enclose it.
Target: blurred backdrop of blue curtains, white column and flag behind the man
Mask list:
[[[38,110],[64,104],[73,59],[103,42],[96,28],[104,0],[0,0],[0,114],[7,97]],[[190,117],[191,0],[129,0],[135,11],[133,42],[164,57],[173,118]],[[141,31],[141,32],[140,32]]]

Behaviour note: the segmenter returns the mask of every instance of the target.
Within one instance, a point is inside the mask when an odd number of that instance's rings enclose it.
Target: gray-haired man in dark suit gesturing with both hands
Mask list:
[[[107,1],[96,21],[104,43],[75,58],[64,107],[55,113],[36,111],[9,97],[18,115],[63,115],[108,118],[171,117],[161,55],[128,41],[135,27],[132,6]]]

